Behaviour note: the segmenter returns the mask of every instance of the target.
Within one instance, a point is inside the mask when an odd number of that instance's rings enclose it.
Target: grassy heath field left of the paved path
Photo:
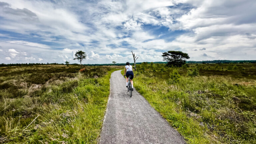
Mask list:
[[[97,143],[116,66],[0,68],[0,143]]]

